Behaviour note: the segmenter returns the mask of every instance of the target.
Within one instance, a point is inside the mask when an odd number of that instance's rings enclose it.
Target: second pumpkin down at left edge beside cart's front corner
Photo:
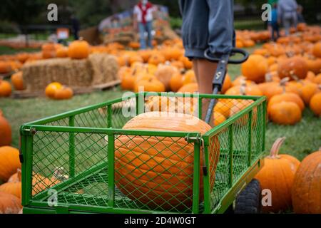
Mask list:
[[[0,180],[9,180],[16,170],[21,169],[19,150],[14,147],[0,147]]]

